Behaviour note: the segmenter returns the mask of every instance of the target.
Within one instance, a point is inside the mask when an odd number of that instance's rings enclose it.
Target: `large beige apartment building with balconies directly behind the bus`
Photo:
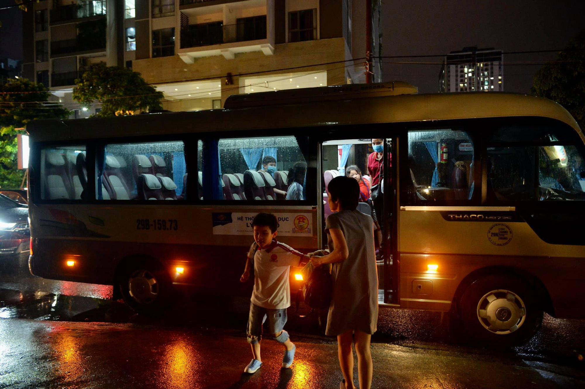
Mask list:
[[[366,0],[44,0],[23,22],[23,76],[67,104],[105,62],[141,73],[165,109],[220,108],[235,93],[364,82],[363,60],[347,60],[366,55],[365,15]]]

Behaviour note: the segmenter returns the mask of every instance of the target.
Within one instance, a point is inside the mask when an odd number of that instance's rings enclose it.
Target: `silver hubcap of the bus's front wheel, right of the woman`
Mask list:
[[[517,294],[509,290],[487,292],[477,304],[477,319],[490,332],[505,335],[524,324],[526,306]]]

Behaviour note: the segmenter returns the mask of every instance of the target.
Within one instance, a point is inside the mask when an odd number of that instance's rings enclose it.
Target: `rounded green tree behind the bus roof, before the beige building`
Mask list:
[[[75,80],[73,98],[81,105],[98,102],[95,116],[133,115],[137,111],[161,109],[163,92],[150,86],[140,73],[119,66],[94,64]]]

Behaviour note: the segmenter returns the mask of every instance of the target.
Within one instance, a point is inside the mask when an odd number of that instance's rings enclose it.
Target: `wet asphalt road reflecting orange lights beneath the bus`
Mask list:
[[[240,373],[251,358],[247,299],[185,294],[149,318],[111,296],[107,285],[33,277],[26,256],[0,257],[0,388],[339,387],[335,342],[319,335],[314,315],[289,312],[299,346],[292,369],[280,370],[281,349],[267,341],[266,364],[249,377]],[[527,345],[489,350],[436,312],[380,309],[373,342],[375,388],[585,387],[581,320],[545,315]]]

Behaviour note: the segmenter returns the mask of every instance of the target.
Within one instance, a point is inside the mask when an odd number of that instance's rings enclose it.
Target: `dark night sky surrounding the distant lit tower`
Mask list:
[[[553,60],[556,53],[507,56],[505,51],[563,49],[585,28],[585,1],[383,0],[382,56],[434,55],[466,46],[504,50],[504,64]],[[441,62],[442,58],[383,61]],[[504,91],[528,93],[538,66],[504,66]],[[438,92],[441,65],[383,64],[383,81],[407,81]]]

